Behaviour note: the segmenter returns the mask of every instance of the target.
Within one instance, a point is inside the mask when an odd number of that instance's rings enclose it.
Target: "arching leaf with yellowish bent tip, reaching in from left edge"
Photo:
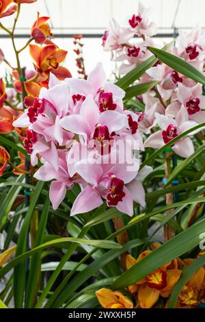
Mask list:
[[[38,251],[41,251],[42,249],[45,249],[47,247],[58,245],[59,243],[77,243],[77,244],[84,244],[84,245],[90,245],[93,247],[103,248],[103,249],[122,249],[122,245],[119,245],[111,240],[91,240],[91,239],[83,239],[83,238],[74,238],[74,237],[65,237],[65,238],[58,238],[51,240],[47,243],[44,243],[38,247],[35,247],[31,249],[31,251],[27,251],[25,253],[22,253],[19,256],[16,256],[14,260],[9,262],[3,269],[0,270],[0,279],[10,271],[13,267],[15,267],[18,263],[22,262],[29,256],[33,255],[34,253],[38,253]]]

